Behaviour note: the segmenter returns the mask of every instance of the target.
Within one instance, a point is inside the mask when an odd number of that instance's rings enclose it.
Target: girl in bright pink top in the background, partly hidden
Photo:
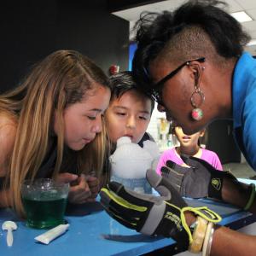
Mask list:
[[[201,148],[200,138],[204,136],[205,130],[198,131],[192,135],[186,135],[183,133],[183,129],[180,126],[176,126],[173,131],[180,146],[170,148],[161,154],[158,166],[156,167],[156,172],[158,174],[161,174],[160,169],[161,167],[166,166],[167,160],[172,160],[179,166],[187,166],[181,159],[181,154],[188,154],[201,158],[202,160],[206,160],[216,169],[223,170],[218,155],[206,148]]]

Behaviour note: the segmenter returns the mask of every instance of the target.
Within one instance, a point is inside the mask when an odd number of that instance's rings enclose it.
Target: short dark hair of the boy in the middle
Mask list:
[[[138,90],[137,82],[133,78],[131,71],[123,71],[119,73],[113,74],[110,78],[110,85],[111,85],[111,98],[110,102],[113,101],[115,98],[120,98],[125,94],[125,92],[129,90],[137,90],[139,93],[144,93],[141,90]],[[148,97],[147,95],[144,95]],[[154,99],[149,97],[151,101],[151,113],[154,109]]]

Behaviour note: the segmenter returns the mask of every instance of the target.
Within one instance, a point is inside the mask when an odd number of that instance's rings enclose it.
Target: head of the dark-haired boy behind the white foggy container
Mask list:
[[[131,72],[116,73],[110,78],[112,93],[105,113],[108,137],[116,143],[119,137],[131,137],[132,143],[151,139],[146,132],[154,109],[154,100],[137,90]]]

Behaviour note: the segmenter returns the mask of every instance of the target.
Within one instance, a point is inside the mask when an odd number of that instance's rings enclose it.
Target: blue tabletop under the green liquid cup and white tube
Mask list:
[[[206,200],[186,199],[191,206],[202,206],[223,216],[221,224],[238,229],[254,222],[253,215],[242,212],[236,207]],[[117,223],[102,210],[98,202],[76,207],[67,212],[67,222],[70,228],[66,234],[60,236],[49,245],[41,244],[34,240],[35,236],[44,233],[45,230],[33,230],[26,227],[24,221],[20,221],[9,209],[0,210],[0,225],[5,220],[15,220],[18,230],[14,231],[13,247],[6,245],[6,231],[0,230],[0,255],[33,255],[33,256],[79,256],[79,255],[140,255],[155,252],[160,255],[161,250],[168,250],[169,255],[177,253],[175,241],[162,237],[148,237],[134,230],[126,229]],[[102,237],[102,234],[116,235],[116,239],[125,241],[111,241]],[[152,255],[152,254],[150,254]]]

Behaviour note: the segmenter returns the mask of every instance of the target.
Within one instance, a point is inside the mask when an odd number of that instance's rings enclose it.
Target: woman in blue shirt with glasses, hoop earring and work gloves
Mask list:
[[[201,131],[214,119],[233,119],[241,152],[256,169],[256,61],[243,52],[249,40],[246,32],[224,12],[223,6],[217,6],[218,3],[189,1],[174,12],[143,16],[137,22],[133,71],[138,84],[143,84],[141,89],[154,96],[160,111],[166,111],[166,115],[186,134]],[[110,183],[108,188],[113,193],[112,198],[105,193],[106,190],[102,191],[102,198],[111,199],[111,208],[106,200],[102,203],[109,214],[114,212],[114,218],[122,216],[119,220],[122,224],[145,234],[172,236],[177,243],[183,242],[183,249],[189,247],[191,252],[200,253],[202,250],[203,255],[254,255],[255,236],[225,227],[216,229],[211,219],[186,207],[170,183],[176,175],[183,195],[189,196],[190,189],[196,189],[193,192],[221,199],[253,213],[256,213],[255,185],[239,183],[227,172],[216,172],[203,160],[191,157],[183,160],[193,167],[193,172],[183,172],[179,177],[177,172],[174,174],[175,170],[169,168],[169,179],[159,177],[163,182],[153,182],[156,186],[161,185],[161,192],[169,191],[169,201],[159,198],[156,204],[155,200],[129,195]],[[152,180],[150,176],[149,180]],[[125,207],[114,206],[112,199],[115,195],[141,212],[135,214],[133,210],[132,219],[129,218],[127,208],[125,212]],[[115,202],[119,205],[119,201]],[[160,206],[164,210],[160,210]],[[154,218],[149,226],[147,221],[153,219],[151,212],[159,218]],[[196,228],[199,224],[200,230]]]

